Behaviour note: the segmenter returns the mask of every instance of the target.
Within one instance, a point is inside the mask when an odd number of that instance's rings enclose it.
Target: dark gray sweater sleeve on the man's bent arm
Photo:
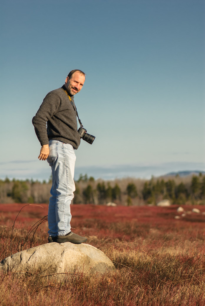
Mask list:
[[[34,125],[36,136],[38,137],[41,146],[49,143],[46,124],[47,121],[50,120],[50,118],[58,111],[59,106],[59,96],[50,92],[45,96],[43,103],[32,119],[32,124]]]

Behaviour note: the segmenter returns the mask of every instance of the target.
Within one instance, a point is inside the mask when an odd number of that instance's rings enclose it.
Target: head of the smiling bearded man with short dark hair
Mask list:
[[[66,77],[65,86],[70,95],[75,95],[81,90],[84,82],[85,76],[76,71],[72,74],[70,79],[68,76]]]

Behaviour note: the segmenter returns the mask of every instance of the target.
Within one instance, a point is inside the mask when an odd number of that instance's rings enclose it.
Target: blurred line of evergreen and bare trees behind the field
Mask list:
[[[52,182],[0,180],[0,203],[48,203]],[[95,180],[80,175],[75,181],[74,204],[118,205],[153,204],[169,199],[173,204],[205,204],[205,176],[161,177],[150,180]]]

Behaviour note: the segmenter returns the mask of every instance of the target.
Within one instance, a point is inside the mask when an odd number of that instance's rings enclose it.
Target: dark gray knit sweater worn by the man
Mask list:
[[[71,99],[74,104],[72,96]],[[45,96],[32,123],[41,145],[48,144],[53,139],[78,149],[81,138],[77,131],[76,113],[62,88],[50,91]]]

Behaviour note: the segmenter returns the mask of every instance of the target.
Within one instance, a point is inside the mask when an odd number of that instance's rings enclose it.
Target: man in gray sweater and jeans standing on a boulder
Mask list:
[[[82,243],[87,240],[71,232],[70,203],[74,197],[74,149],[78,149],[76,108],[73,96],[81,91],[85,73],[72,70],[65,84],[50,91],[43,100],[32,123],[41,144],[40,160],[51,166],[52,188],[48,207],[48,242]],[[46,127],[47,124],[47,127]]]

